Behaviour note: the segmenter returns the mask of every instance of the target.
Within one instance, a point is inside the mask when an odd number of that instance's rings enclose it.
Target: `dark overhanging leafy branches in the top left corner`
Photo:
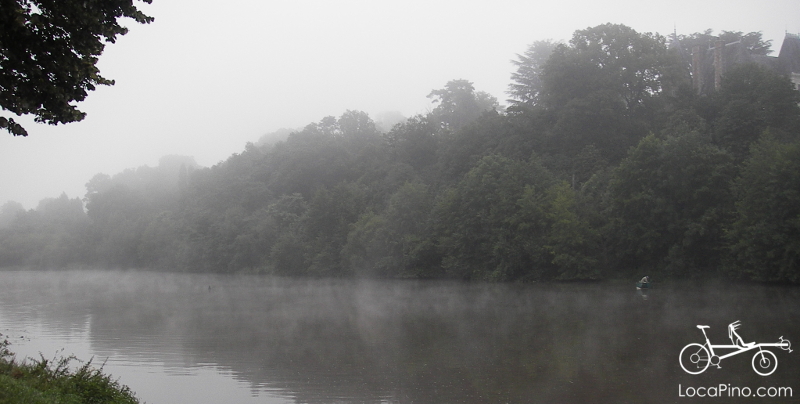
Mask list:
[[[128,32],[117,20],[153,21],[133,0],[2,0],[0,5],[0,107],[51,125],[82,120],[86,113],[73,103],[98,85],[114,84],[100,75],[97,57],[104,42]],[[13,118],[0,117],[0,129],[28,135]]]

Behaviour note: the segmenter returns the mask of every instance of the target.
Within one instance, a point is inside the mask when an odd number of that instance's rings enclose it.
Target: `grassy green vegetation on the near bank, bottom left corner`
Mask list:
[[[127,386],[119,384],[91,361],[76,369],[75,358],[18,362],[0,343],[0,404],[136,404]]]

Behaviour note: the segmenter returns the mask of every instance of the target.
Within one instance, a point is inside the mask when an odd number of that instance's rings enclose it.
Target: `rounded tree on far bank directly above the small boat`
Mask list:
[[[614,170],[610,237],[628,268],[708,270],[732,209],[731,156],[696,134],[650,135]]]

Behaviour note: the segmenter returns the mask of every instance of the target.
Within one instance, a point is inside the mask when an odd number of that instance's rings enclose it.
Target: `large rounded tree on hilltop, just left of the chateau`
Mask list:
[[[624,25],[576,31],[542,69],[541,105],[554,116],[553,149],[575,155],[595,145],[615,161],[648,132],[673,79],[666,40]]]

